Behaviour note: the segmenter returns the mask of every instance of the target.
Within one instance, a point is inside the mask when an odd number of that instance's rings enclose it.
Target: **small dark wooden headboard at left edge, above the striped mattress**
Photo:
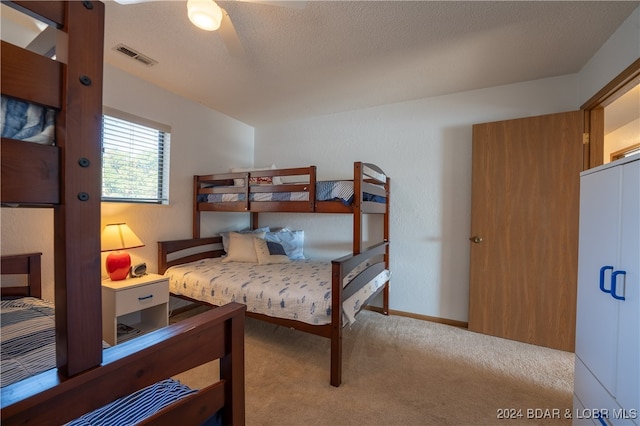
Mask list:
[[[7,286],[0,288],[2,297],[7,296],[31,296],[42,297],[42,253],[26,253],[2,256],[0,260],[0,274],[2,275],[26,275],[27,285]]]

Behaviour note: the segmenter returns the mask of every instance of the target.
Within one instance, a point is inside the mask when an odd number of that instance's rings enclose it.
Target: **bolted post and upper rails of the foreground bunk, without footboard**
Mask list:
[[[2,139],[3,205],[54,210],[57,366],[100,364],[100,195],[104,5],[3,2],[61,29],[67,63],[2,41],[2,94],[55,108],[56,145]],[[98,254],[98,256],[96,256]],[[87,306],[94,309],[89,310]]]

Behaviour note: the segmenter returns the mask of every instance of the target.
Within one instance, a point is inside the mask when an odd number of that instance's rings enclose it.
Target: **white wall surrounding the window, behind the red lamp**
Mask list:
[[[104,105],[171,126],[170,204],[102,203],[102,225],[127,222],[145,247],[130,250],[134,263],[157,270],[157,241],[192,235],[193,175],[251,165],[252,127],[187,101],[105,65]],[[44,297],[53,300],[53,212],[51,209],[2,208],[2,254],[43,252]],[[245,215],[205,219],[205,229],[239,227]],[[106,255],[102,256],[104,258]],[[103,277],[106,271],[103,268]]]

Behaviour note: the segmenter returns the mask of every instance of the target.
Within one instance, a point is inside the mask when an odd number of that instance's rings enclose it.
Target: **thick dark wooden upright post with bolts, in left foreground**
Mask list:
[[[100,200],[104,4],[65,2],[69,34],[60,203],[54,207],[57,366],[72,376],[102,361]]]

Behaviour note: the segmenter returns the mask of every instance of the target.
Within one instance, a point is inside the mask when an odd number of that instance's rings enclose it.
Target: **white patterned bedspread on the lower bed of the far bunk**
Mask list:
[[[215,258],[171,267],[165,275],[176,295],[216,306],[239,302],[249,312],[312,325],[331,323],[331,262],[260,265]],[[363,303],[388,280],[385,270],[343,303],[345,324],[355,321]]]

